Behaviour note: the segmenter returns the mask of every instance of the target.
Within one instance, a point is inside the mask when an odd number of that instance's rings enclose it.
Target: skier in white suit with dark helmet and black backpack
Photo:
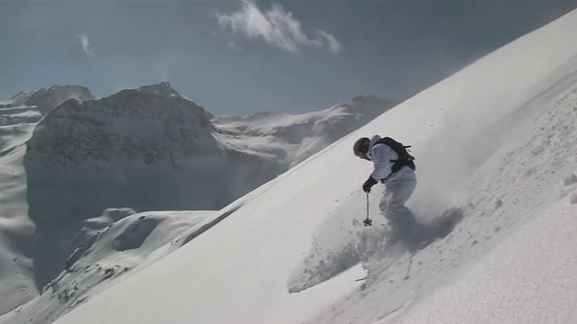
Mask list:
[[[417,186],[415,158],[408,154],[407,148],[389,137],[381,139],[379,135],[357,139],[353,145],[356,157],[373,163],[373,171],[362,184],[362,191],[371,193],[371,187],[379,181],[385,184],[379,209],[389,220],[391,231],[397,234],[407,233],[415,222],[415,216],[405,207]]]

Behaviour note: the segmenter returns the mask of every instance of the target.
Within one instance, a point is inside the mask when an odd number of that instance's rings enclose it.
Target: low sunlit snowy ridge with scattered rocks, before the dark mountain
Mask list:
[[[177,248],[172,238],[197,231],[215,211],[107,210],[84,220],[80,242],[66,269],[41,295],[0,318],[11,323],[48,323],[104,292],[121,278],[142,271]],[[39,311],[41,310],[41,311]]]

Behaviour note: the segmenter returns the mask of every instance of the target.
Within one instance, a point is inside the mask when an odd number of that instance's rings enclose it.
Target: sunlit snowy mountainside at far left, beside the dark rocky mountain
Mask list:
[[[43,113],[69,99],[94,98],[84,87],[55,85],[0,102],[0,314],[38,294],[32,270],[35,225],[28,217],[24,143]]]

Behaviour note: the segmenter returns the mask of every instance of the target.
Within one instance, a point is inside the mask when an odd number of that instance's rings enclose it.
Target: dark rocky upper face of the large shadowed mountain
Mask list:
[[[212,130],[202,107],[162,83],[62,103],[38,123],[28,148],[30,157],[43,152],[44,162],[64,167],[126,158],[178,166],[215,150]]]

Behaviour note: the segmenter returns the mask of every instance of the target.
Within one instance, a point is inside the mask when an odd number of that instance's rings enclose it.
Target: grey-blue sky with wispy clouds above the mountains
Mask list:
[[[168,80],[215,114],[406,99],[568,1],[0,2],[0,98]]]

